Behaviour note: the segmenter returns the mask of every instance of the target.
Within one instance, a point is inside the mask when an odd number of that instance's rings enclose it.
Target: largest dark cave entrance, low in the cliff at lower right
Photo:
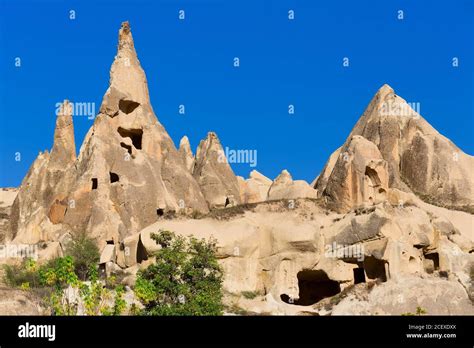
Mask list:
[[[310,306],[324,298],[332,297],[341,292],[339,282],[329,279],[326,272],[304,270],[298,272],[299,298],[292,300],[287,294],[280,296],[286,303],[299,306]]]

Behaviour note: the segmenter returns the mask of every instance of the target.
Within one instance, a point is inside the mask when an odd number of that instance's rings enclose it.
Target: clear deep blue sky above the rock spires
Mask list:
[[[286,168],[311,181],[388,83],[472,155],[473,17],[470,0],[0,0],[0,187],[19,185],[52,147],[56,103],[99,109],[124,20],[158,119],[193,151],[212,130],[224,146],[257,150],[268,177]],[[78,150],[92,122],[74,118]]]

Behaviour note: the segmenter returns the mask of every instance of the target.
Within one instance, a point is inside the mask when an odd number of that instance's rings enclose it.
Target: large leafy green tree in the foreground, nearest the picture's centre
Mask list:
[[[221,315],[222,268],[216,241],[152,234],[161,246],[156,262],[137,275],[135,294],[147,315]]]

